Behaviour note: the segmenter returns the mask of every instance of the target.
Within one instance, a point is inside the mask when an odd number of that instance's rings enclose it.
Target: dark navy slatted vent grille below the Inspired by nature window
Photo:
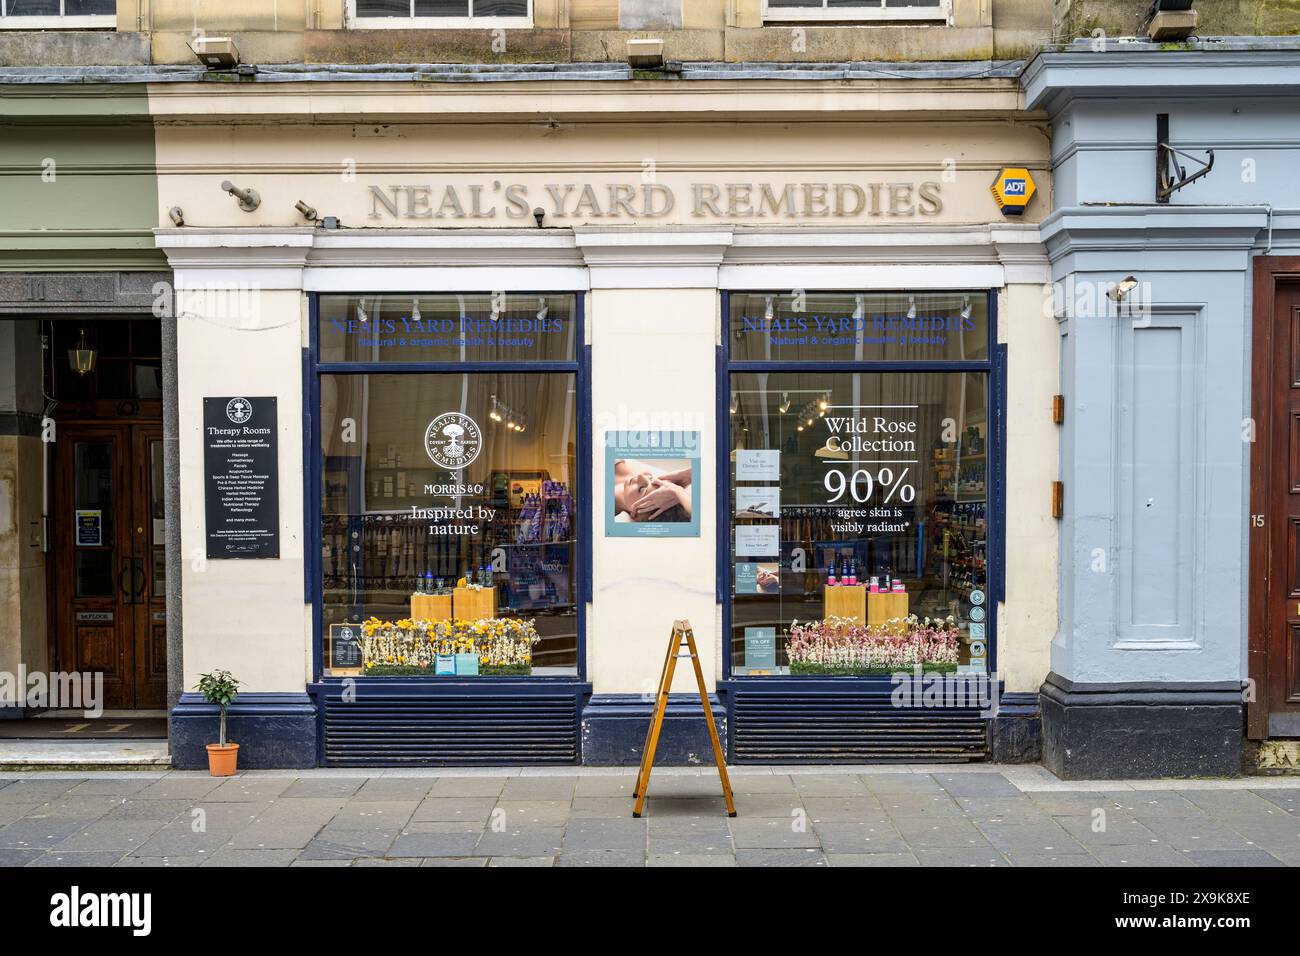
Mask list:
[[[577,693],[322,697],[325,766],[577,762]]]

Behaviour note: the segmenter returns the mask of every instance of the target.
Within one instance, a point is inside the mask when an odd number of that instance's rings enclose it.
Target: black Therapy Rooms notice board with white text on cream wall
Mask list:
[[[276,399],[203,399],[203,501],[209,558],[280,557]]]

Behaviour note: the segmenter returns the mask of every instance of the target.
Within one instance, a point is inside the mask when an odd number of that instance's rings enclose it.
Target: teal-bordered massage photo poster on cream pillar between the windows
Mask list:
[[[604,536],[699,537],[699,432],[604,433]]]

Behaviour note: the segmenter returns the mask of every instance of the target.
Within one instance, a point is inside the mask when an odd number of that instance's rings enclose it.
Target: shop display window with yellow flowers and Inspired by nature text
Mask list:
[[[328,676],[575,676],[573,295],[322,295]]]

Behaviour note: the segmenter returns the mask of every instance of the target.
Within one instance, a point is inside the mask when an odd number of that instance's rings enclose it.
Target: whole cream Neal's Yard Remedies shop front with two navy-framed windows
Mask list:
[[[185,685],[244,680],[248,766],[634,763],[677,619],[734,761],[1032,757],[1057,535],[1036,120],[1005,122],[1014,82],[954,81],[966,118],[922,124],[879,109],[915,109],[902,81],[861,126],[708,82],[732,120],[696,82],[559,81],[559,120],[472,125],[508,83],[320,82],[311,116],[274,85],[157,92],[160,221],[204,224],[156,233]],[[391,126],[352,122],[380,105]],[[1008,168],[1041,196],[1017,220]],[[659,753],[690,762],[681,676]],[[172,724],[202,765],[211,709],[187,693]]]

